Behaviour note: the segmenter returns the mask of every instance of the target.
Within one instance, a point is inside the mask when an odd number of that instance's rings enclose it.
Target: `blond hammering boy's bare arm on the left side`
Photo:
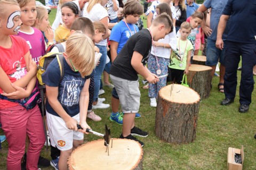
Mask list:
[[[46,91],[49,104],[54,109],[54,111],[65,121],[67,128],[77,131],[77,121],[67,114],[58,100],[59,87],[50,87],[46,85]]]

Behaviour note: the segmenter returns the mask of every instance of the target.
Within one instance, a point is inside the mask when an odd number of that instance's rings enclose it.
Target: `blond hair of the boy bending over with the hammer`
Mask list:
[[[94,44],[82,31],[75,31],[66,41],[66,54],[82,77],[94,69]]]

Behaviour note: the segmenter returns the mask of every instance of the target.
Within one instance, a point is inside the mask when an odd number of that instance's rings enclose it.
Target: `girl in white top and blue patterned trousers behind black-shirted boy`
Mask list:
[[[172,16],[169,4],[161,3],[156,6],[156,15],[164,12]],[[177,38],[175,32],[174,27],[173,32],[166,35],[164,39],[154,41],[151,47],[151,53],[148,59],[148,70],[151,73],[156,74],[158,77],[168,74],[167,65],[170,61],[171,50],[177,49]],[[159,79],[156,84],[149,83],[148,96],[150,98],[151,107],[156,107],[158,91],[164,86],[166,86],[166,77]]]

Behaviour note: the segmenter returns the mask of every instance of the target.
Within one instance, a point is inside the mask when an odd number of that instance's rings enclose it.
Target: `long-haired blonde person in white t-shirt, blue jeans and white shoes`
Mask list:
[[[94,95],[93,95],[93,108],[108,108],[109,105],[98,102],[99,90],[100,90],[100,79],[101,74],[106,65],[107,59],[107,38],[110,35],[108,30],[108,13],[103,7],[107,3],[107,0],[91,0],[89,3],[84,5],[83,16],[89,18],[92,22],[100,21],[106,28],[106,33],[102,37],[96,46],[100,49],[102,56],[100,57],[100,64],[95,67],[94,74]]]

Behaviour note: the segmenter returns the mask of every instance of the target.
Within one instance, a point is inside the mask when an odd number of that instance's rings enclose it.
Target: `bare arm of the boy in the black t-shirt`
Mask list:
[[[137,73],[142,75],[149,83],[156,83],[158,78],[151,74],[147,67],[143,66],[143,64],[141,63],[142,58],[143,56],[140,53],[136,51],[133,52],[131,60],[131,65],[133,69],[137,71]]]

